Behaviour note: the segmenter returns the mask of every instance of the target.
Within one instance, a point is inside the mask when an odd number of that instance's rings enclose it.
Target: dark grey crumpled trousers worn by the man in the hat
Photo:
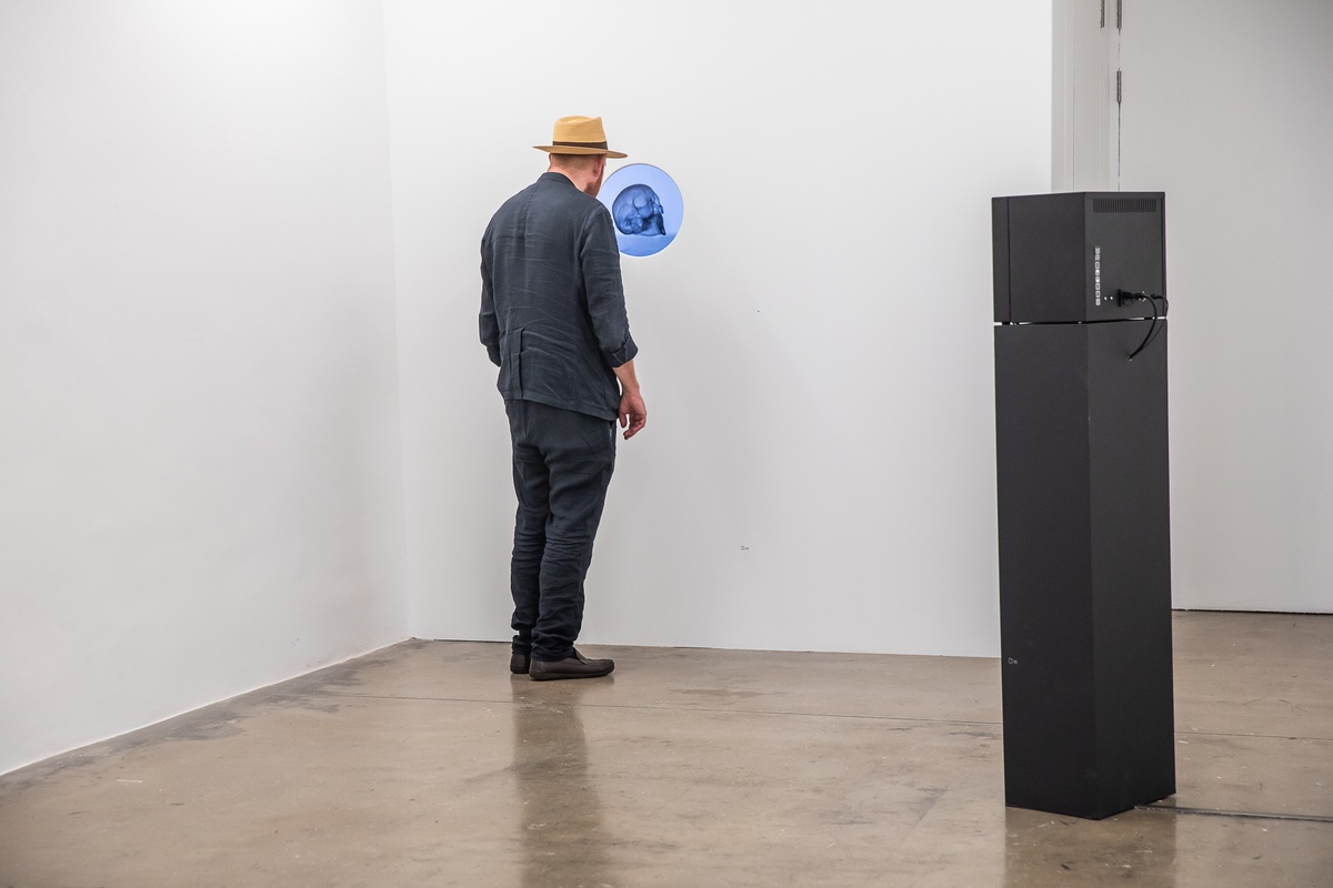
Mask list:
[[[616,467],[616,423],[535,401],[505,401],[513,442],[513,650],[573,656],[584,578]]]

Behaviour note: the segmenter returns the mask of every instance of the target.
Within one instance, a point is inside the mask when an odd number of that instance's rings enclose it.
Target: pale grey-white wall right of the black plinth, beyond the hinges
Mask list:
[[[1126,4],[1120,188],[1166,192],[1178,607],[1333,611],[1333,4]]]

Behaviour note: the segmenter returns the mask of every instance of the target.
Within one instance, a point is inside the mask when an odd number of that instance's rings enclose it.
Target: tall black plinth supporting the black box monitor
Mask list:
[[[1009,805],[1176,791],[1166,330],[1128,357],[1149,324],[996,328]]]

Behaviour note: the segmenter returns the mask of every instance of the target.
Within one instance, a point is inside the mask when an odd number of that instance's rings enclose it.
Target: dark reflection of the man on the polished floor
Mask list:
[[[581,682],[513,688],[513,772],[519,784],[524,888],[612,883],[611,835],[588,768]]]

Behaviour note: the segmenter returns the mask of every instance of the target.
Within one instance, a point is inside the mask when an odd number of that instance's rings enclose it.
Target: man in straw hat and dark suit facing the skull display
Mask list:
[[[600,117],[561,117],[551,168],[511,197],[481,238],[481,342],[500,367],[513,443],[509,670],[533,680],[608,675],[575,648],[584,578],[625,439],[648,421],[635,377],[616,232],[597,192],[608,157]]]

